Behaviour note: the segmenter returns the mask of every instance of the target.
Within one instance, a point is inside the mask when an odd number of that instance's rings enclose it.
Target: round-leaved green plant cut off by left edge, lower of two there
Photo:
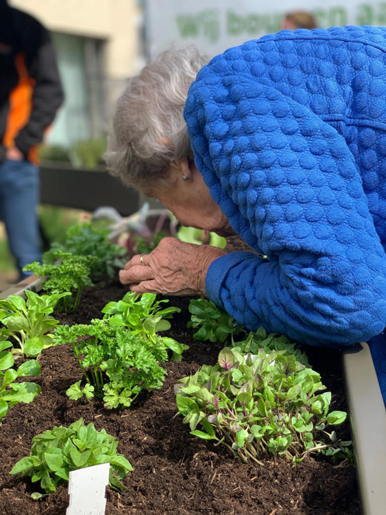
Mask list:
[[[8,350],[10,341],[0,341],[0,421],[17,402],[32,402],[40,393],[40,386],[34,382],[14,382],[25,376],[38,376],[40,365],[34,359],[25,361],[18,369],[13,369],[14,356]]]

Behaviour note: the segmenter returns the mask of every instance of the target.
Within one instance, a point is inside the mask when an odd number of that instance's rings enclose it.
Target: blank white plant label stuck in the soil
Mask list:
[[[109,470],[104,463],[70,472],[67,515],[104,515]]]

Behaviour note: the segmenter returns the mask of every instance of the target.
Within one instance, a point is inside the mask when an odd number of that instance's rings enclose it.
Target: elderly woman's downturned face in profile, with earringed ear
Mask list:
[[[188,179],[184,180],[184,176]],[[208,229],[220,236],[234,234],[194,164],[189,164],[187,159],[171,163],[167,181],[168,184],[162,183],[156,188],[143,188],[143,192],[157,198],[181,225]]]

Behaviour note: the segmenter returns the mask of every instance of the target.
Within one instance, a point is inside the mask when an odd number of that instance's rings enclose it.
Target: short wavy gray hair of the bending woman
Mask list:
[[[130,79],[118,100],[104,155],[112,175],[128,186],[156,187],[165,181],[169,163],[193,159],[184,104],[208,60],[193,46],[173,47]]]

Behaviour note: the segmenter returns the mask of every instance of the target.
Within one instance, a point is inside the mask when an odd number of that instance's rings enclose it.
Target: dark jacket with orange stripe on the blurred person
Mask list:
[[[36,146],[62,101],[49,33],[0,0],[0,162],[10,146],[36,162]]]

